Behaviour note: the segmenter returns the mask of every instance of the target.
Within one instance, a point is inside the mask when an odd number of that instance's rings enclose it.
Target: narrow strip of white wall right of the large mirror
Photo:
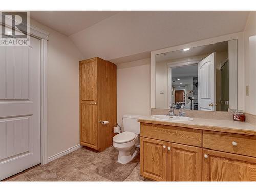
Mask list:
[[[245,111],[256,115],[256,12],[251,11],[244,30],[245,86],[250,95],[245,96]]]

